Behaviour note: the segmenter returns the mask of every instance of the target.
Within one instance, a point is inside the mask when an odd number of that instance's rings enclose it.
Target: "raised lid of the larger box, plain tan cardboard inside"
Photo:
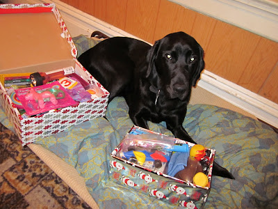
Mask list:
[[[0,73],[47,72],[75,63],[76,47],[54,3],[0,5]]]

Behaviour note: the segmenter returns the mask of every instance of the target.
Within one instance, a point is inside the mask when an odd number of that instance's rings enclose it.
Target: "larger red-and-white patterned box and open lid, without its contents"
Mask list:
[[[87,102],[23,118],[0,84],[1,106],[23,146],[105,115],[109,93],[77,61],[76,47],[55,4],[1,4],[0,24],[1,74],[49,72],[72,66],[79,77],[103,92]]]

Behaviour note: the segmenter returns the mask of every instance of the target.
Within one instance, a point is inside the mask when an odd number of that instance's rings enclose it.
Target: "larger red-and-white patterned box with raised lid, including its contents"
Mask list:
[[[0,25],[0,101],[23,146],[32,143],[38,137],[47,137],[72,125],[105,115],[109,93],[77,61],[76,47],[55,4],[1,4]],[[59,80],[59,83],[52,84],[49,88],[52,92],[49,93],[45,91],[47,86],[41,91],[35,89],[32,80],[32,87],[29,88],[28,82],[31,77],[28,75],[33,73],[41,76],[40,82],[42,79],[43,82],[47,82],[46,78],[53,78],[53,75],[55,79],[55,75],[63,73],[66,85],[63,86]],[[60,85],[67,86],[69,78],[72,82],[71,89],[67,88],[65,91],[63,88],[62,91]],[[8,82],[17,83],[12,85]],[[23,91],[24,88],[19,86],[18,82],[22,82],[20,85],[29,90],[35,89],[33,93],[36,94],[28,101],[27,97],[24,98],[26,112],[27,108],[31,109],[29,114],[24,111],[22,113],[18,107],[24,104],[17,94],[29,93]],[[16,88],[11,89],[10,86]],[[77,90],[77,86],[81,88]],[[90,88],[95,88],[95,91],[91,91]],[[96,92],[97,94],[93,95]],[[74,97],[68,93],[75,93],[74,102]],[[88,93],[92,93],[91,97]],[[87,99],[83,100],[84,98]],[[53,109],[46,109],[50,107]],[[36,114],[32,109],[46,111]]]

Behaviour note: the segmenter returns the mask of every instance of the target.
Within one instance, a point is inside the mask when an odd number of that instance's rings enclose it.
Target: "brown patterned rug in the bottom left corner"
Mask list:
[[[90,208],[0,123],[0,208]]]

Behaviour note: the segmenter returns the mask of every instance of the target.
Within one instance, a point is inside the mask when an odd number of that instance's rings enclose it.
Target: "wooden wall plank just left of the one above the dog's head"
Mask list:
[[[125,31],[152,42],[160,0],[127,1]]]

